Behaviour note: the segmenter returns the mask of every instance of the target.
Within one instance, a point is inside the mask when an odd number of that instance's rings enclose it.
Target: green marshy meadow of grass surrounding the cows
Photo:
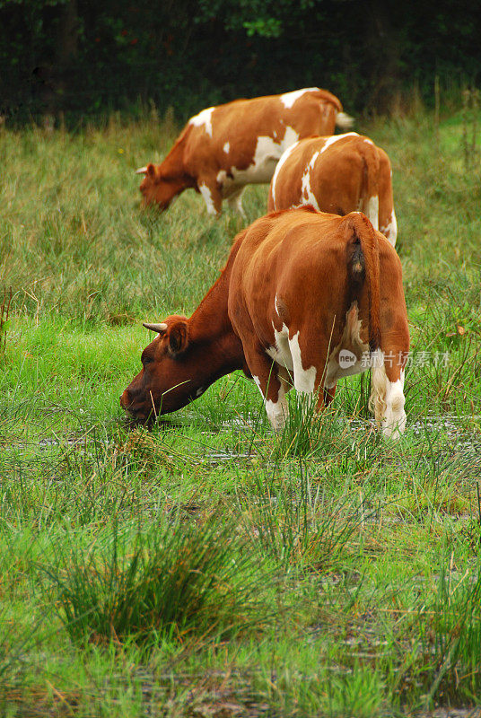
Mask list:
[[[136,121],[0,129],[0,712],[441,716],[481,702],[481,162],[474,118],[358,122],[393,165],[407,432],[369,378],[267,424],[243,374],[152,431],[118,398],[245,223],[141,211]],[[267,187],[246,190],[249,221]],[[6,321],[8,288],[12,302]],[[0,317],[0,320],[2,318]],[[462,711],[466,711],[462,713]],[[442,712],[444,711],[444,713]]]

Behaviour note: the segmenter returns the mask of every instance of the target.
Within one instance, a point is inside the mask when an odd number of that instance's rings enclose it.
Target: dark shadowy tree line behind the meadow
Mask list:
[[[476,83],[476,0],[0,0],[0,110],[22,121],[319,85],[348,111]]]

